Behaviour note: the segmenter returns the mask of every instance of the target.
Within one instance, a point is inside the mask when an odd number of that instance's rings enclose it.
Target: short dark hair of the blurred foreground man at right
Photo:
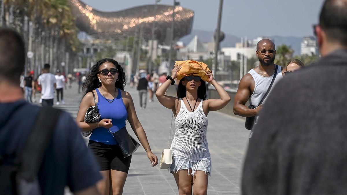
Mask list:
[[[347,46],[346,1],[326,0],[319,16],[319,23],[329,40]]]

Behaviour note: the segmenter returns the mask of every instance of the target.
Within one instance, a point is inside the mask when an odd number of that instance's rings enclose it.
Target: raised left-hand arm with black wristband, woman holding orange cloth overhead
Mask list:
[[[172,76],[171,77],[173,79],[175,79],[177,77],[177,72],[180,69],[181,69],[181,67],[179,66],[179,67],[175,67],[172,70]],[[177,98],[173,97],[173,96],[165,95],[165,92],[166,92],[166,90],[168,90],[170,84],[171,84],[171,80],[169,79],[166,82],[164,82],[162,85],[160,85],[158,90],[156,90],[156,92],[155,92],[155,96],[156,96],[156,98],[158,98],[158,101],[161,103],[161,105],[163,105],[166,108],[176,110],[175,101],[177,100]]]

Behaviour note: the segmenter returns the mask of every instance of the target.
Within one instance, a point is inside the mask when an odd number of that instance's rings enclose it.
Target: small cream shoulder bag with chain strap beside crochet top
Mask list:
[[[180,100],[178,99],[175,119],[177,117],[177,109],[178,109],[179,102],[180,102]],[[172,117],[171,117],[171,126],[170,126],[169,140],[168,140],[168,148],[164,149],[164,152],[161,152],[161,159],[160,159],[160,164],[159,164],[159,167],[161,169],[168,169],[172,164],[172,150],[170,149],[170,145],[171,145],[170,141],[171,141],[171,130],[172,130],[172,121],[173,120],[174,120],[174,113],[172,113]],[[174,130],[172,133],[172,138],[175,135],[175,124],[176,124],[176,122],[174,123]]]

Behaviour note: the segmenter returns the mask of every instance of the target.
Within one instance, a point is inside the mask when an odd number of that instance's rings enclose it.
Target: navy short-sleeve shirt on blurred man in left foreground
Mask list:
[[[16,107],[19,108],[15,109]],[[25,144],[39,107],[24,100],[0,103],[0,154],[15,154]],[[63,112],[38,173],[42,194],[64,194],[65,186],[78,192],[96,184],[102,177],[99,166],[87,149],[76,122]],[[9,163],[11,158],[5,163]]]

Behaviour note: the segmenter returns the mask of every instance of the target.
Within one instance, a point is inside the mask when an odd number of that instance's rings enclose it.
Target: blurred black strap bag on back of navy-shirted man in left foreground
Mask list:
[[[10,154],[0,156],[0,192],[9,195],[40,195],[37,178],[44,154],[50,144],[61,110],[42,107],[28,139],[11,163]]]

